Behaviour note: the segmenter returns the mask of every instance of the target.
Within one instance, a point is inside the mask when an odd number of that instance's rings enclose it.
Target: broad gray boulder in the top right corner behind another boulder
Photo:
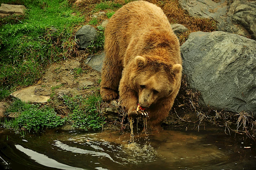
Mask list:
[[[256,40],[256,1],[248,0],[179,0],[190,16],[214,19],[217,29]]]

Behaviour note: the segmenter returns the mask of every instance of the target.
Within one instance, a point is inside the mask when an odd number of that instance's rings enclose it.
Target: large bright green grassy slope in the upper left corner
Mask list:
[[[15,4],[15,1],[3,0]],[[13,3],[14,2],[14,3]],[[49,63],[72,56],[76,40],[73,29],[84,18],[67,0],[20,0],[25,16],[0,19],[0,89],[28,86],[38,80]],[[56,10],[57,9],[57,10]],[[50,28],[58,31],[51,35]],[[57,37],[57,43],[52,38]]]

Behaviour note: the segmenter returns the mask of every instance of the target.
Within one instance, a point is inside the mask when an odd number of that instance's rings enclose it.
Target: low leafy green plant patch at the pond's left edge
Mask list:
[[[65,122],[65,119],[57,116],[54,109],[49,106],[41,107],[39,104],[28,104],[20,100],[15,100],[7,109],[6,114],[11,113],[18,113],[18,117],[5,119],[2,124],[5,128],[15,131],[25,129],[37,132],[41,128],[54,128]]]

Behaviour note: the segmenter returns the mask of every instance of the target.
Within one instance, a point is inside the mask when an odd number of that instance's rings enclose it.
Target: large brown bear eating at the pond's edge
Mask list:
[[[180,89],[180,44],[161,8],[146,1],[124,5],[109,19],[100,94],[118,97],[128,117],[148,112],[148,133],[159,133]]]

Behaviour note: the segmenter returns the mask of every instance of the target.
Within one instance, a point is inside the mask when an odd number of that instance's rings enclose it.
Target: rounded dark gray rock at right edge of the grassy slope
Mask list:
[[[85,49],[90,45],[92,41],[97,38],[97,31],[90,25],[84,25],[76,32],[76,38],[79,39],[79,47]]]

